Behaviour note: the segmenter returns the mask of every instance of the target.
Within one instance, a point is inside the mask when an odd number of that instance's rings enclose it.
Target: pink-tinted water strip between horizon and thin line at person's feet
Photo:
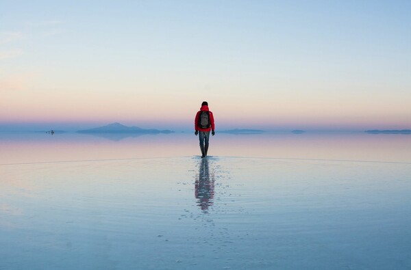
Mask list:
[[[2,133],[0,164],[200,154],[194,133],[85,135],[79,133]],[[411,135],[366,133],[216,133],[209,154],[345,161],[411,162]]]

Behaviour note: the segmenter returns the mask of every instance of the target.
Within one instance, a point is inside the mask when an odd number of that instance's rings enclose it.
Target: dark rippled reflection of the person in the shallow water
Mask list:
[[[198,206],[201,210],[207,211],[208,206],[212,205],[214,198],[214,174],[210,176],[208,160],[201,160],[199,175],[195,178],[195,198],[198,200]]]

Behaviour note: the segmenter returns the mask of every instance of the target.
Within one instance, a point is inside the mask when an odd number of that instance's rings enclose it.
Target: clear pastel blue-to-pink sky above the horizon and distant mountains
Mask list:
[[[411,129],[411,1],[0,0],[0,131]]]

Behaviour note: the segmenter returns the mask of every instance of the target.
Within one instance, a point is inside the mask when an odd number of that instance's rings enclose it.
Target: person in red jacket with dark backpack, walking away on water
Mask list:
[[[201,158],[207,156],[208,139],[210,139],[210,131],[214,136],[214,116],[208,109],[207,101],[201,103],[201,108],[197,111],[194,120],[195,135],[199,135]]]

